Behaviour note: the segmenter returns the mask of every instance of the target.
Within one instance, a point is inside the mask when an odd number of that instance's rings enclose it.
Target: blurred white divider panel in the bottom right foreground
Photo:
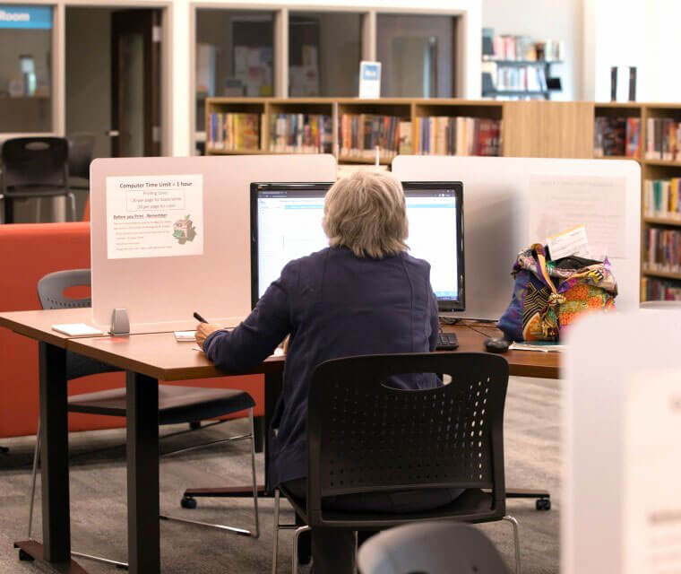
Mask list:
[[[586,317],[567,337],[561,573],[676,572],[679,309]]]

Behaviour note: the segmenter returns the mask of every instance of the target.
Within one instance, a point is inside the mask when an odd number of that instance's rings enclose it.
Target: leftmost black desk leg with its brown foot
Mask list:
[[[47,343],[39,343],[38,352],[43,543],[24,540],[14,547],[20,559],[35,560],[50,572],[84,573],[71,560],[66,352]]]

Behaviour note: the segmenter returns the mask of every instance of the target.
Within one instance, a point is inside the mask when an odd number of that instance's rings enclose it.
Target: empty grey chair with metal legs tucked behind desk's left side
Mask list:
[[[69,287],[76,285],[90,285],[91,272],[90,269],[73,269],[70,271],[58,271],[56,273],[47,274],[38,283],[38,295],[40,304],[43,309],[68,309],[77,307],[90,307],[91,299],[70,299],[65,297],[64,291]],[[82,357],[72,352],[66,354],[66,376],[69,380],[73,378],[86,377],[102,372],[118,370],[99,361],[95,361],[88,357]],[[101,414],[108,416],[125,417],[126,414],[126,390],[125,387],[114,388],[106,391],[99,391],[95,393],[87,393],[83,395],[73,395],[68,398],[68,411],[71,413],[89,413]],[[202,526],[211,526],[236,533],[239,535],[254,536],[257,538],[260,535],[260,523],[258,520],[258,487],[255,478],[255,448],[254,448],[254,422],[253,422],[253,408],[255,402],[253,397],[246,391],[237,389],[220,389],[220,388],[200,388],[200,387],[177,387],[175,385],[159,385],[159,425],[177,424],[181,422],[188,422],[194,424],[196,422],[205,421],[209,419],[218,419],[225,417],[228,414],[238,413],[240,411],[248,410],[248,419],[250,422],[251,431],[248,434],[237,437],[230,437],[229,439],[212,440],[208,443],[195,445],[189,448],[178,448],[173,451],[164,453],[164,457],[177,454],[179,452],[187,452],[197,448],[213,446],[216,444],[230,442],[240,439],[250,439],[251,441],[251,470],[253,483],[253,497],[254,497],[254,513],[255,513],[255,528],[254,531],[246,530],[244,528],[237,528],[235,526],[216,525],[200,522],[197,520],[188,520],[179,517],[168,517],[161,515],[161,518],[167,520],[176,520],[178,522],[186,522],[189,524],[197,524]],[[222,424],[227,421],[211,422],[205,425],[214,426]],[[200,428],[194,425],[194,429]],[[189,432],[189,431],[184,431]],[[179,432],[168,436],[177,436]],[[32,530],[33,521],[33,504],[35,500],[36,491],[36,474],[39,463],[40,452],[40,422],[38,424],[38,432],[36,438],[36,449],[33,455],[33,474],[31,479],[30,491],[30,510],[29,510],[29,538]],[[93,556],[91,554],[83,554],[82,552],[72,552],[73,556],[80,556],[82,558],[90,558],[96,561],[103,561],[109,564],[114,564],[120,567],[126,567],[127,564],[122,561],[113,561],[100,556]],[[20,557],[21,557],[20,553]]]

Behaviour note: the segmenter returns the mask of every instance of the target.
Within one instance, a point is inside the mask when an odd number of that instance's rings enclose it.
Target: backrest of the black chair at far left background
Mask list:
[[[65,187],[68,143],[63,137],[9,139],[3,143],[2,163],[4,191],[8,187]]]

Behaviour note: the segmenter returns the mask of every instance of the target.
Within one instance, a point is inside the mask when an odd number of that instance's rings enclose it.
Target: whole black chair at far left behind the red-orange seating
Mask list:
[[[63,137],[17,137],[2,147],[4,222],[13,223],[16,199],[64,196],[75,221],[75,196],[68,182],[68,143]],[[37,202],[37,221],[40,204]],[[68,218],[67,218],[68,219]]]

